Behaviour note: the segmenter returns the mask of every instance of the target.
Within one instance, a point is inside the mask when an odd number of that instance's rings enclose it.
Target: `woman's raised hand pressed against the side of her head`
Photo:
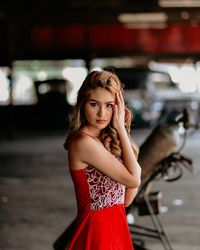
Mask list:
[[[116,102],[113,112],[113,127],[119,132],[124,129],[125,104],[122,92],[116,93]]]

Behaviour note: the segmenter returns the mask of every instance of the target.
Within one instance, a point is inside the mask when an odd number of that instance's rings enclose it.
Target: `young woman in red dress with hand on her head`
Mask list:
[[[125,207],[140,185],[131,113],[119,78],[93,71],[77,97],[65,148],[78,215],[69,250],[132,250]]]

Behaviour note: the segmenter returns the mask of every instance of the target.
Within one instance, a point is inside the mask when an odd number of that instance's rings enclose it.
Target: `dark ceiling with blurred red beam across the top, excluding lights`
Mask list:
[[[166,13],[168,26],[130,30],[118,20],[121,13],[150,12]],[[0,64],[138,53],[199,58],[199,23],[200,7],[163,8],[158,0],[1,1]]]

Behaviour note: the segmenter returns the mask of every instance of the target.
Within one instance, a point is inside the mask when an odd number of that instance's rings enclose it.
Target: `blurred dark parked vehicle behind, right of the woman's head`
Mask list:
[[[170,75],[146,67],[112,68],[124,84],[124,98],[134,114],[133,127],[155,126],[189,108],[198,116],[200,95],[177,88]]]

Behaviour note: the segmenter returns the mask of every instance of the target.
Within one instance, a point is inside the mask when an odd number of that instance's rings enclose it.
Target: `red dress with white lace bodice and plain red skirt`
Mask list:
[[[125,187],[88,166],[71,170],[78,215],[68,250],[133,250]]]

